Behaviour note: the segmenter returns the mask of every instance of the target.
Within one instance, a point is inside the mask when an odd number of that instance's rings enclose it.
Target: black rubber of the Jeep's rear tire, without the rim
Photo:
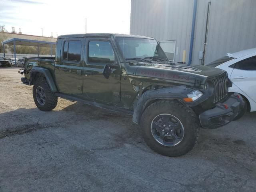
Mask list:
[[[36,89],[42,87],[45,93],[45,103],[40,104],[36,98]],[[42,111],[53,110],[58,102],[58,97],[55,96],[54,92],[51,91],[50,86],[44,77],[40,77],[36,80],[33,86],[33,98],[38,109]]]

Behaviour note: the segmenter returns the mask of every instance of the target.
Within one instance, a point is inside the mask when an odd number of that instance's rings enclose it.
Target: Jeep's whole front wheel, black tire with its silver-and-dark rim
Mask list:
[[[165,156],[182,156],[192,150],[198,140],[196,114],[175,100],[151,104],[142,114],[141,125],[148,146]]]

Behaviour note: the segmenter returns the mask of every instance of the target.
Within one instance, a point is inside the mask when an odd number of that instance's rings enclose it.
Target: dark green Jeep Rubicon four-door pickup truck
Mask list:
[[[200,127],[224,126],[244,107],[239,94],[228,94],[225,71],[170,62],[144,36],[59,36],[55,58],[26,58],[20,73],[34,85],[40,110],[54,109],[61,97],[130,114],[148,146],[166,156],[186,154]]]

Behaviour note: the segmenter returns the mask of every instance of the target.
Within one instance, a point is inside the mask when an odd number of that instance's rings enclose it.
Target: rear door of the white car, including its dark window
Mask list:
[[[256,102],[256,56],[232,65],[231,81]]]

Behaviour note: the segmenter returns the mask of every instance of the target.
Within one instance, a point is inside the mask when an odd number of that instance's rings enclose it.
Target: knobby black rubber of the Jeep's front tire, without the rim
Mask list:
[[[152,120],[160,114],[170,114],[178,118],[184,127],[184,136],[175,146],[164,146],[153,137],[151,132]],[[199,121],[194,111],[176,100],[161,100],[154,102],[142,114],[141,127],[143,137],[148,146],[155,152],[177,157],[188,153],[198,140]]]

